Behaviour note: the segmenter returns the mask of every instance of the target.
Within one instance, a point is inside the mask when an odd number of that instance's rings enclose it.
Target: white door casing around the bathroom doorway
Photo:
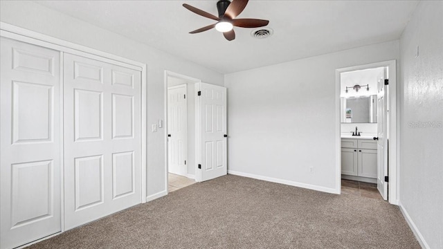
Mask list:
[[[341,194],[341,121],[340,121],[340,91],[341,73],[358,71],[368,68],[387,67],[389,73],[389,95],[388,95],[388,196],[389,203],[399,205],[399,98],[397,98],[397,60],[392,59],[384,62],[375,62],[358,66],[338,68],[335,71],[335,106],[336,106],[336,193]]]

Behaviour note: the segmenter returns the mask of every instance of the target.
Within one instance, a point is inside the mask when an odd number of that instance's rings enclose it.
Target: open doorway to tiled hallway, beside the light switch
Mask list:
[[[168,192],[195,183],[195,83],[200,80],[165,72]]]

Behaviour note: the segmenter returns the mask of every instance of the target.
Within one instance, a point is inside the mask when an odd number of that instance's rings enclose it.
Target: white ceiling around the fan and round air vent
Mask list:
[[[217,15],[213,1],[37,1],[90,24],[172,55],[233,73],[294,59],[398,39],[418,1],[249,1],[237,18],[268,19],[271,37],[235,28],[228,42],[215,23],[186,10],[188,3]]]

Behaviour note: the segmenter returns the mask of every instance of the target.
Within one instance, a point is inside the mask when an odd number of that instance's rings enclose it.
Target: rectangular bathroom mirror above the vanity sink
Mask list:
[[[377,95],[341,98],[341,122],[376,123]]]

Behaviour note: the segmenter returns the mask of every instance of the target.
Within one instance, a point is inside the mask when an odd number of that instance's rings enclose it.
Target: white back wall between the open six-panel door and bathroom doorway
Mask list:
[[[335,70],[398,58],[393,41],[225,75],[229,171],[333,192]]]

